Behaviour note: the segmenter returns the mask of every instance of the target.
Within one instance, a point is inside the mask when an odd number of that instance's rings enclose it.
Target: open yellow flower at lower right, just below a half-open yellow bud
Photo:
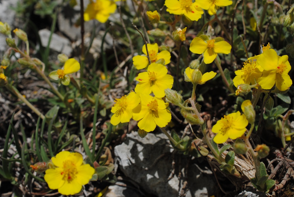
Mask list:
[[[217,144],[224,143],[228,138],[235,140],[245,133],[247,125],[248,120],[239,111],[225,115],[212,127],[211,131],[217,133],[213,140]]]

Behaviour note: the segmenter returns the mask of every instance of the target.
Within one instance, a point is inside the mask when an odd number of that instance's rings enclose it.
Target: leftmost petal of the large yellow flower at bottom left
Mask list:
[[[61,173],[62,168],[50,168],[45,171],[44,179],[50,189],[58,189],[64,184]]]

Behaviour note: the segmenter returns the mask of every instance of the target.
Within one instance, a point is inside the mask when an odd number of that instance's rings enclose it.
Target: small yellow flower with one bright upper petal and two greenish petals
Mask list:
[[[74,58],[70,58],[64,63],[64,69],[58,69],[50,72],[49,77],[53,80],[60,79],[63,85],[69,85],[71,77],[68,75],[77,72],[79,69],[80,63],[78,63],[78,61],[76,61]]]

